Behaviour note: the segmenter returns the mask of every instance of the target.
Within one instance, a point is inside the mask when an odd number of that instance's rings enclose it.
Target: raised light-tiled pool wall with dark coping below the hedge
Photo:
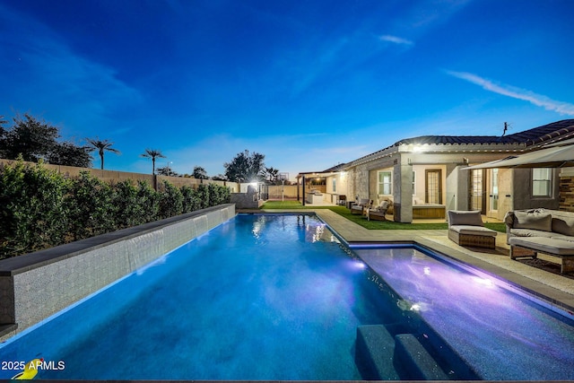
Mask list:
[[[0,341],[235,216],[218,205],[0,261]]]

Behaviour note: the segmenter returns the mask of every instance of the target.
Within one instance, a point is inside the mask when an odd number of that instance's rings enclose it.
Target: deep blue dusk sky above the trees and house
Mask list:
[[[326,170],[417,135],[574,118],[570,0],[0,0],[0,115],[106,169]],[[93,166],[100,167],[95,159]]]

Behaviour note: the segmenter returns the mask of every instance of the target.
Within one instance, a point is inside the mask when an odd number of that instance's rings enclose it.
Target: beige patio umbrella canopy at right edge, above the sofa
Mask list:
[[[463,168],[465,170],[491,168],[563,168],[574,166],[574,145],[552,146],[535,152],[511,155],[502,160],[490,161]]]

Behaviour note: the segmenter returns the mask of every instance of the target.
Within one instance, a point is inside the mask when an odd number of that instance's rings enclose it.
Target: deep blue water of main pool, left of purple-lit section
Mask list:
[[[363,273],[314,216],[239,215],[0,361],[65,362],[37,379],[360,379],[356,327],[387,317]]]

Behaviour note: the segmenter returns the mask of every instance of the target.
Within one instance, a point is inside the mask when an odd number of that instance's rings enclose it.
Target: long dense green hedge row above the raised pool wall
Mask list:
[[[159,191],[147,182],[102,182],[89,172],[67,179],[42,163],[0,170],[0,259],[109,231],[229,203],[228,187],[208,184]]]

